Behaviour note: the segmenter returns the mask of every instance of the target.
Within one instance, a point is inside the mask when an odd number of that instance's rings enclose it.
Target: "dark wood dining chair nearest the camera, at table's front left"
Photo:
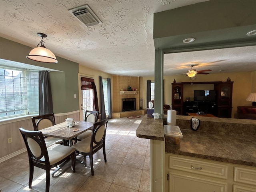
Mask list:
[[[75,149],[69,146],[54,144],[46,147],[44,136],[41,131],[28,131],[23,128],[19,129],[26,144],[29,159],[29,182],[31,188],[34,166],[46,170],[46,188],[50,188],[50,169],[70,160],[71,169],[75,172],[76,153]]]

